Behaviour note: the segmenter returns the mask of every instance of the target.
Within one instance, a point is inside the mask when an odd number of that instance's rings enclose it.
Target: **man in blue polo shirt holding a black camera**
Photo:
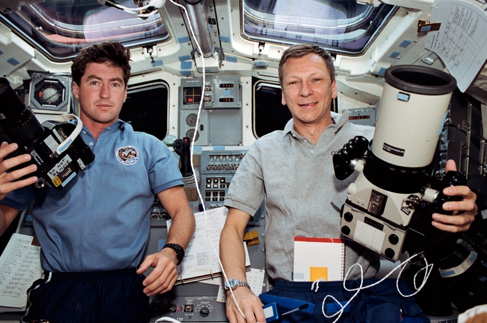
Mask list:
[[[0,233],[34,200],[32,222],[45,277],[29,289],[21,322],[147,322],[148,296],[169,291],[195,229],[182,176],[156,137],[119,120],[130,51],[118,42],[84,48],[71,67],[81,137],[95,153],[62,190],[34,189],[36,169],[6,172],[30,155],[0,163]],[[0,159],[15,151],[0,146]],[[8,195],[7,195],[8,194]],[[167,244],[142,259],[157,196],[172,219]],[[150,275],[143,273],[154,267]]]

